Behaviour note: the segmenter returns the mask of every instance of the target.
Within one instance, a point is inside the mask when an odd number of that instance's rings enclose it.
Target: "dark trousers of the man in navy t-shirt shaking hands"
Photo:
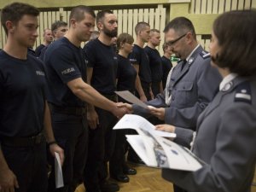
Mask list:
[[[65,112],[65,111],[63,111]],[[83,171],[88,150],[88,125],[86,113],[58,113],[51,110],[56,142],[64,149],[62,166],[64,187],[55,189],[55,160],[50,158],[52,171],[48,191],[73,192],[83,182]]]

